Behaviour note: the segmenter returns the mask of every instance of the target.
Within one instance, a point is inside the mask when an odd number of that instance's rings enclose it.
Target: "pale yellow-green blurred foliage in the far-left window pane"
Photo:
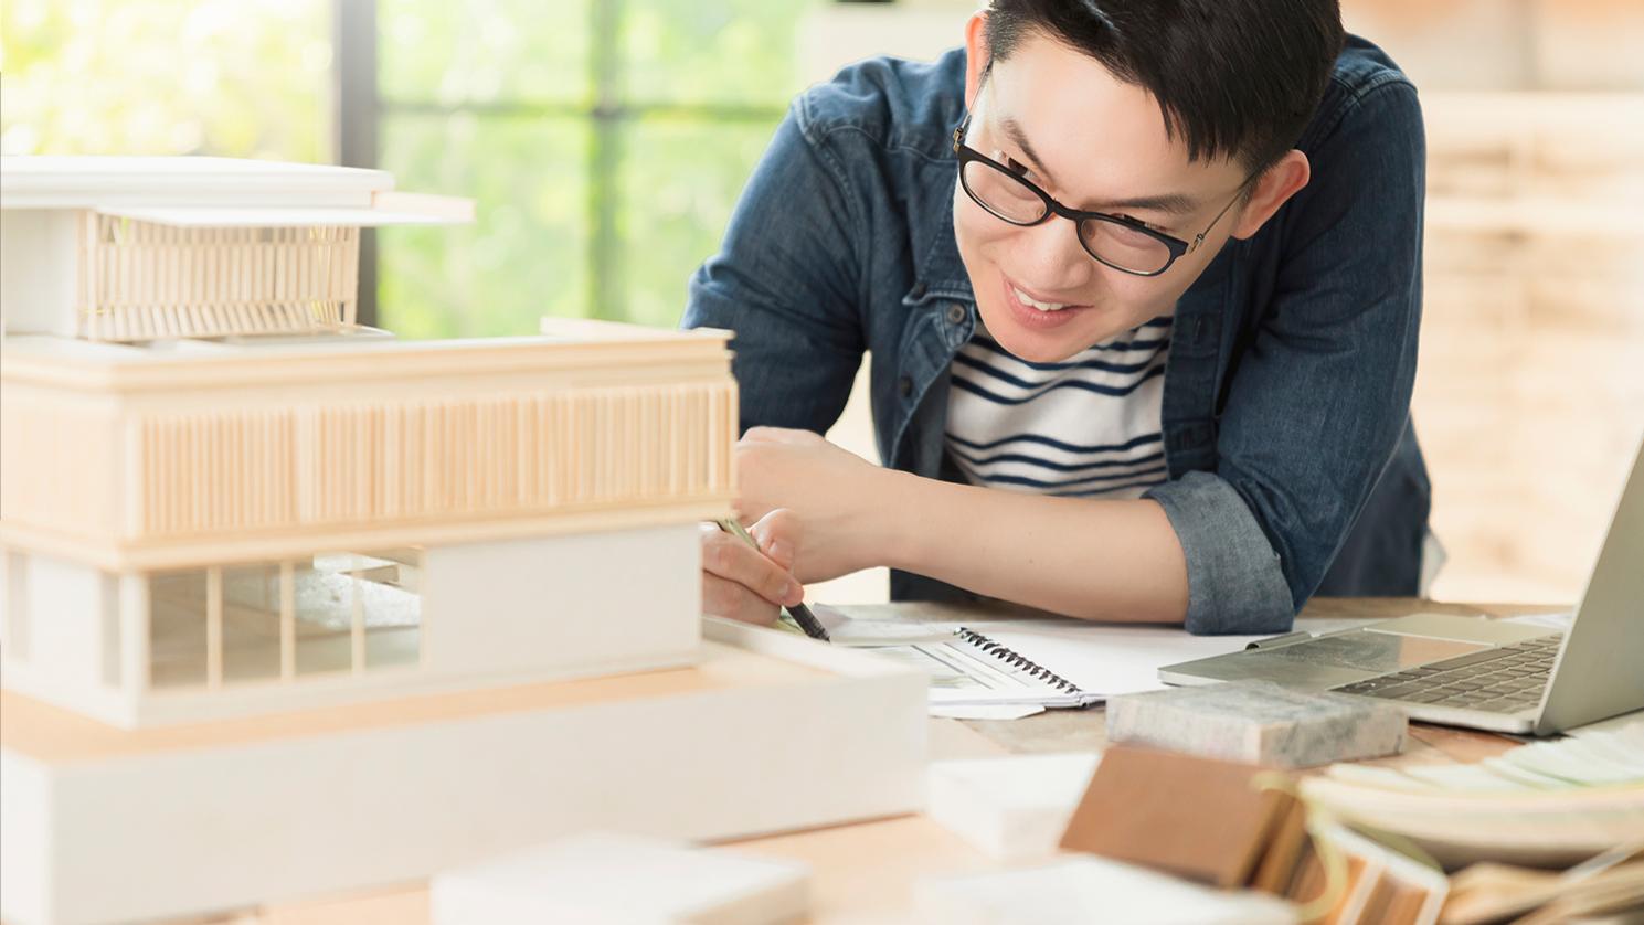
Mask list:
[[[330,159],[329,0],[7,0],[0,151]]]

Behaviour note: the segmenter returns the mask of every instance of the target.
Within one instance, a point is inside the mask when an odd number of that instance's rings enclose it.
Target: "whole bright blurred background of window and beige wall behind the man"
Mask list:
[[[973,2],[7,0],[7,154],[349,163],[477,199],[385,228],[362,315],[403,337],[674,325],[787,100],[932,58]],[[1422,90],[1415,421],[1434,596],[1572,603],[1644,430],[1644,3],[1348,0]],[[865,404],[832,434],[873,458]],[[1641,564],[1644,565],[1644,564]],[[812,588],[883,600],[870,572]]]

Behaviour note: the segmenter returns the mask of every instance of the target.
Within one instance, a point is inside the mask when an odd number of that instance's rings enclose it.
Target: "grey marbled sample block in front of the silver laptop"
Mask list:
[[[1221,761],[1312,767],[1394,754],[1407,721],[1392,703],[1266,680],[1177,687],[1108,700],[1108,741]]]

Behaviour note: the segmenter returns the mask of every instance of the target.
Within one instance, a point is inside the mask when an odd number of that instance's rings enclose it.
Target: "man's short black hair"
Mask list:
[[[991,61],[1031,35],[1152,94],[1190,159],[1251,173],[1295,146],[1343,41],[1338,0],[991,0]]]

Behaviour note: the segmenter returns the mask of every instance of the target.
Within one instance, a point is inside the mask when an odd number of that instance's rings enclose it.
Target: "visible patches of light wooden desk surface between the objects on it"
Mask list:
[[[840,608],[852,616],[914,619],[958,619],[970,608],[945,605],[868,605]],[[1394,618],[1409,613],[1455,613],[1514,616],[1544,613],[1547,605],[1442,605],[1412,598],[1314,600],[1297,619],[1353,616]],[[996,616],[998,610],[990,608]],[[1103,711],[1077,710],[1041,713],[1024,720],[931,720],[932,761],[981,757],[990,754],[1093,751],[1106,743]],[[1517,743],[1493,733],[1475,733],[1415,723],[1402,754],[1376,764],[1463,764],[1499,754]],[[738,841],[748,854],[791,858],[810,864],[814,874],[812,923],[878,925],[914,920],[912,887],[931,874],[963,874],[995,866],[986,856],[926,817],[842,825],[822,830]],[[421,884],[362,894],[342,900],[304,902],[263,909],[250,917],[224,922],[247,925],[342,925],[342,923],[426,923],[427,892]]]

